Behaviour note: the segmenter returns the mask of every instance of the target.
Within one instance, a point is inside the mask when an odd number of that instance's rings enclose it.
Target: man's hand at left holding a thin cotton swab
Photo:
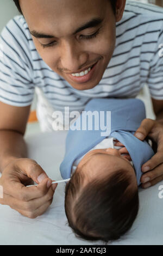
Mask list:
[[[26,187],[33,181],[39,185]],[[36,218],[47,210],[57,187],[36,161],[24,158],[15,159],[5,166],[0,185],[3,187],[0,204],[9,205],[29,218]]]

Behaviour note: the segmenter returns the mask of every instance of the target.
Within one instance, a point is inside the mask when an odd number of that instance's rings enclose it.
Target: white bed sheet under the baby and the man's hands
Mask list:
[[[141,98],[141,96],[140,96]],[[152,117],[151,106],[147,117]],[[60,163],[65,153],[67,131],[39,133],[26,138],[29,157],[36,160],[49,177],[60,180]],[[163,198],[159,198],[159,186],[139,188],[139,214],[128,235],[112,245],[163,245]],[[64,211],[65,183],[58,184],[52,205],[42,216],[29,219],[9,206],[0,205],[1,245],[103,245],[101,241],[89,242],[77,239],[66,224]]]

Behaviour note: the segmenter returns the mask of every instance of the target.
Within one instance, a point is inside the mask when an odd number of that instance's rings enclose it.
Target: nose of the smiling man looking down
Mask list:
[[[62,41],[60,61],[65,72],[76,72],[87,63],[87,53],[82,52],[73,41]]]

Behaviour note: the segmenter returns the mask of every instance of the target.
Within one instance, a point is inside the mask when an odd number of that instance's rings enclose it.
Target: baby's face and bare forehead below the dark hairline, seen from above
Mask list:
[[[125,172],[130,172],[137,186],[133,166],[117,149],[107,148],[89,151],[78,164],[78,169],[80,170],[81,168],[84,173],[87,174],[86,182],[89,181],[91,177],[101,177],[102,175],[111,174],[116,170],[123,169]]]

